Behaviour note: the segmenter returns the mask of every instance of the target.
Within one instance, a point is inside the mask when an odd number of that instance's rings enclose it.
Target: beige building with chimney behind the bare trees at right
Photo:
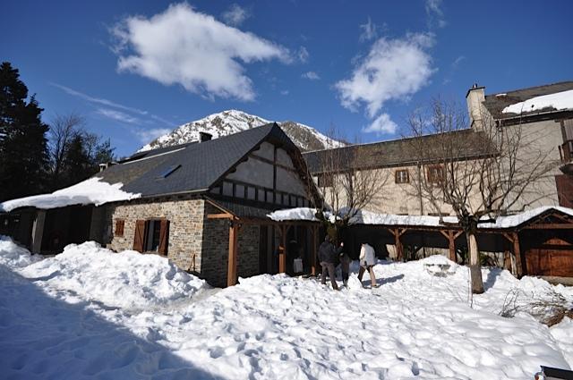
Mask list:
[[[512,209],[519,212],[543,206],[573,207],[573,81],[491,95],[485,95],[483,87],[474,86],[467,91],[466,103],[470,122],[467,129],[449,132],[448,136],[466,141],[462,155],[423,156],[420,147],[439,145],[443,138],[428,135],[312,151],[304,153],[304,159],[326,199],[333,170],[340,175],[372,171],[372,178],[384,185],[366,207],[368,211],[454,215],[448,205],[440,206],[437,213],[413,185],[432,182],[444,159],[479,160],[491,154],[491,142],[485,139],[483,128],[493,123],[496,128],[523,136],[524,145],[529,147],[519,154],[541,154],[548,163],[554,163],[550,173],[532,183],[531,191],[522,194]],[[338,161],[336,169],[328,164],[333,157]]]

